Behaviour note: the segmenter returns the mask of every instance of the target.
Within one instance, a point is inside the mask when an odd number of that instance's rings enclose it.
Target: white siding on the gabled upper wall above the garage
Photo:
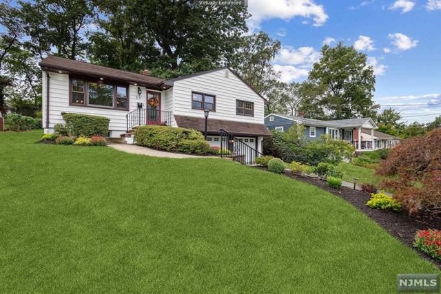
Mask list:
[[[204,117],[203,110],[192,109],[192,91],[216,95],[216,112],[210,112],[209,118],[263,124],[263,99],[232,72],[229,72],[228,77],[225,76],[225,70],[217,70],[175,81],[174,114]],[[253,102],[254,116],[236,115],[236,99]]]

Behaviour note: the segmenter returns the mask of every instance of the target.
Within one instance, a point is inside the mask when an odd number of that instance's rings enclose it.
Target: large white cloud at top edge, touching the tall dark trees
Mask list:
[[[249,0],[248,12],[252,14],[247,20],[250,30],[260,28],[260,23],[267,19],[285,19],[305,17],[314,21],[314,26],[325,24],[329,18],[323,6],[314,0]]]

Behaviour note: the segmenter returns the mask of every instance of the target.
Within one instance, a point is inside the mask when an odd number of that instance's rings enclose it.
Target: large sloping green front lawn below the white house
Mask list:
[[[1,293],[395,293],[439,273],[317,187],[40,135],[0,133]]]

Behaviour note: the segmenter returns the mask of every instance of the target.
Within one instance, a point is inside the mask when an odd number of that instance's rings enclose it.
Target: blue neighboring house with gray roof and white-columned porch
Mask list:
[[[305,126],[305,139],[317,140],[320,135],[329,134],[334,139],[342,139],[356,147],[356,151],[370,151],[375,149],[376,123],[371,118],[353,118],[343,120],[317,120],[304,118],[300,112],[298,116],[283,114],[269,114],[265,116],[265,126],[270,130],[287,132],[294,123]],[[369,138],[364,133],[371,134]]]

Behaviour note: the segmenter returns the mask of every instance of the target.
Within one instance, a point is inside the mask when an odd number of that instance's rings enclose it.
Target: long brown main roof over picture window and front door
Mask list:
[[[40,63],[43,70],[59,70],[62,72],[71,72],[75,74],[85,74],[88,76],[100,76],[103,78],[110,78],[116,81],[126,81],[128,83],[140,83],[143,85],[153,85],[159,87],[163,85],[165,79],[155,78],[154,76],[147,76],[145,74],[136,74],[134,72],[127,72],[125,70],[116,70],[114,68],[95,65],[83,61],[75,61],[72,59],[65,59],[63,57],[49,55]],[[168,87],[167,87],[168,88]]]

